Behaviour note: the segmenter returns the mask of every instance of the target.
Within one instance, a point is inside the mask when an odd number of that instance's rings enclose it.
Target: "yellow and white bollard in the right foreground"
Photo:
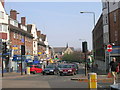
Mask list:
[[[97,74],[88,73],[88,88],[97,89]]]

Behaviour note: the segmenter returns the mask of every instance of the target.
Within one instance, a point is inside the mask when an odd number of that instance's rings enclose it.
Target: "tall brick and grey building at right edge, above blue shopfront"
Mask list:
[[[103,28],[103,32],[94,31],[93,34],[93,47],[95,50],[95,62],[98,64],[99,68],[105,71],[109,71],[109,63],[112,60],[113,57],[117,58],[117,61],[120,60],[120,0],[117,2],[115,0],[103,0],[102,1],[102,22],[103,25],[100,27]],[[99,23],[99,20],[98,20]],[[99,30],[99,29],[98,29]],[[96,34],[95,34],[96,32]],[[101,55],[103,55],[104,58],[99,58],[97,55],[97,47],[100,45],[97,45],[97,39],[95,36],[98,34],[103,34],[103,48],[101,49],[103,52],[101,52]],[[98,35],[99,36],[99,35]],[[98,39],[100,40],[100,39]],[[112,45],[112,52],[107,51],[107,45]],[[104,50],[103,50],[104,49]],[[110,56],[110,58],[109,58]],[[99,60],[98,60],[99,59]],[[103,67],[104,66],[104,67]]]

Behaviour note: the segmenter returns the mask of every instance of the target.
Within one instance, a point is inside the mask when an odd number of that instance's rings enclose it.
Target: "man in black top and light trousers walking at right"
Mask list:
[[[110,62],[110,67],[111,67],[111,73],[113,76],[114,84],[116,84],[116,79],[117,79],[117,71],[116,68],[118,66],[118,63],[116,61],[116,58],[113,58],[112,61]]]

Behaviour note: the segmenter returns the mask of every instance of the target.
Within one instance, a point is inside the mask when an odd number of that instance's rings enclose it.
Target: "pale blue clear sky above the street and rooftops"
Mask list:
[[[36,24],[38,30],[47,35],[52,47],[81,48],[82,42],[88,42],[92,50],[93,14],[96,22],[102,13],[101,2],[6,2],[6,12],[17,10],[20,17],[25,16],[27,24]],[[81,40],[80,40],[81,39]]]

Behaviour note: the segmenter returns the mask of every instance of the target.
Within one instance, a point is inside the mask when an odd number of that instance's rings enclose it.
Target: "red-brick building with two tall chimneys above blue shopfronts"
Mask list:
[[[25,57],[33,56],[33,35],[27,31],[25,17],[21,17],[21,23],[17,21],[16,10],[10,11],[9,33],[11,42],[10,48],[12,49],[11,57],[13,57],[11,67],[14,67],[14,70],[19,70],[21,68],[21,45],[25,47]],[[23,62],[24,61],[25,60],[23,60]],[[19,67],[17,67],[17,64],[19,65]]]

